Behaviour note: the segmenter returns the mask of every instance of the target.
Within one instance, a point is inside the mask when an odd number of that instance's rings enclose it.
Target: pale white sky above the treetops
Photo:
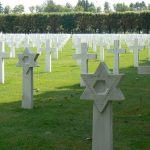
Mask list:
[[[28,8],[30,6],[36,6],[36,5],[41,5],[45,2],[46,0],[0,0],[3,6],[9,5],[12,8],[15,5],[22,4],[25,7],[25,11],[28,12]],[[78,2],[78,0],[53,0],[56,4],[61,4],[65,5],[67,2],[69,2],[72,6],[75,6]],[[93,2],[96,6],[101,6],[103,7],[104,2],[107,1],[110,4],[114,3],[125,3],[125,4],[130,4],[135,3],[135,2],[142,2],[144,1],[146,4],[150,3],[150,0],[88,0],[89,2]]]

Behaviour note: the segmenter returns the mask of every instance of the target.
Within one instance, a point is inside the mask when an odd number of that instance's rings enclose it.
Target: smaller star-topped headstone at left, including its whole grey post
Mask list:
[[[32,53],[28,48],[18,54],[17,67],[23,67],[23,96],[22,108],[33,108],[33,67],[38,67],[36,62],[39,54]]]

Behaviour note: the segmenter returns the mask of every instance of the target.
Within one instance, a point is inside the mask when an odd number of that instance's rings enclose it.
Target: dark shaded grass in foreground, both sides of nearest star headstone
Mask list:
[[[134,67],[120,72],[126,100],[114,103],[114,148],[144,150],[150,146],[150,77]],[[90,150],[93,102],[80,100],[82,92],[79,84],[36,92],[32,110],[21,109],[21,102],[0,104],[0,149]]]

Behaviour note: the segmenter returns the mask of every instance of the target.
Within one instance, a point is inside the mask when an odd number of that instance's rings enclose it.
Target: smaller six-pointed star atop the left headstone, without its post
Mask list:
[[[39,54],[34,54],[28,48],[25,48],[23,54],[18,54],[19,62],[17,63],[17,67],[25,68],[27,74],[31,67],[39,66],[36,62],[38,56]]]

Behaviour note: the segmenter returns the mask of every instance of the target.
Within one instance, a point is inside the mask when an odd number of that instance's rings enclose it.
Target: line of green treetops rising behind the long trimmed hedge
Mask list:
[[[30,6],[30,13],[39,12],[93,12],[93,13],[110,13],[110,12],[126,12],[126,11],[143,11],[150,10],[150,4],[146,4],[144,1],[130,3],[126,5],[125,3],[116,3],[113,5],[113,9],[110,7],[109,2],[105,2],[103,10],[101,6],[95,6],[94,3],[88,0],[78,0],[75,6],[72,6],[69,2],[65,6],[56,4],[53,0],[46,0],[42,5]],[[0,2],[0,13],[3,14],[22,14],[25,12],[23,5],[16,5],[11,8],[9,5],[3,7]]]

